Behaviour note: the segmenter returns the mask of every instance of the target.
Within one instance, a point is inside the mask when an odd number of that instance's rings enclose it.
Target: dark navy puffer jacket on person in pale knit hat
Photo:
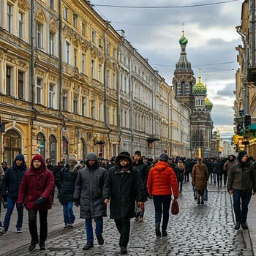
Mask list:
[[[68,203],[74,198],[75,182],[78,177],[79,170],[82,166],[76,165],[72,172],[69,171],[69,165],[61,169],[59,173],[59,202]]]

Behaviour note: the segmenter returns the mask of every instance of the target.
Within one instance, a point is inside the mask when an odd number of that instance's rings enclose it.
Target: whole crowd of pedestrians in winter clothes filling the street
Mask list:
[[[156,236],[167,236],[171,201],[178,199],[186,182],[192,183],[195,203],[202,206],[209,182],[218,187],[227,186],[227,191],[233,196],[234,228],[247,229],[248,205],[256,192],[255,169],[255,161],[246,151],[241,151],[237,158],[230,155],[209,159],[187,159],[184,156],[174,159],[166,153],[152,159],[144,157],[140,151],[135,151],[133,156],[123,151],[110,160],[103,158],[102,153],[97,156],[90,152],[86,159],[80,160],[71,154],[57,165],[38,154],[31,159],[29,168],[23,154],[18,154],[11,167],[7,167],[7,162],[0,166],[0,214],[1,204],[7,207],[4,222],[0,222],[1,233],[7,233],[12,225],[14,208],[18,211],[17,233],[22,233],[23,209],[26,208],[31,235],[29,251],[33,251],[37,244],[45,250],[48,210],[56,190],[63,208],[64,228],[74,226],[73,206],[80,207],[80,218],[85,219],[86,229],[83,250],[94,247],[93,220],[97,243],[104,244],[103,217],[107,217],[106,205],[110,203],[109,217],[114,220],[120,234],[120,252],[127,254],[130,221],[134,218],[135,222],[143,222],[147,198],[153,198],[154,202]]]

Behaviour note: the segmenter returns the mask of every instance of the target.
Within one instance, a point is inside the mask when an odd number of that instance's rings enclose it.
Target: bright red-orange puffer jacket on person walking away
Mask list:
[[[178,181],[173,168],[167,162],[157,162],[148,174],[150,195],[172,195],[178,198]]]

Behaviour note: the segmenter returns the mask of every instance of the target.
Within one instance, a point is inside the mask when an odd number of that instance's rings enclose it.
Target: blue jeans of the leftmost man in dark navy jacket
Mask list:
[[[13,208],[14,208],[15,203],[17,202],[17,200],[18,200],[18,198],[7,197],[7,212],[6,212],[5,217],[4,217],[4,230],[9,229],[10,219],[11,219],[11,216],[12,216],[12,211],[13,211]],[[16,227],[21,228],[22,223],[23,223],[23,210],[20,211],[20,209],[18,209],[17,203],[16,203],[16,209],[17,209],[17,212],[18,212],[18,219],[17,219]]]

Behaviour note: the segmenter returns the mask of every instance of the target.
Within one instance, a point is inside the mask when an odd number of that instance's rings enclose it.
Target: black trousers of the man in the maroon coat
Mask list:
[[[37,210],[29,209],[29,233],[31,236],[31,244],[38,244],[38,232],[37,232],[37,211],[39,211],[39,223],[40,223],[40,232],[39,232],[39,245],[44,245],[47,234],[48,234],[48,223],[47,216],[48,210]]]

